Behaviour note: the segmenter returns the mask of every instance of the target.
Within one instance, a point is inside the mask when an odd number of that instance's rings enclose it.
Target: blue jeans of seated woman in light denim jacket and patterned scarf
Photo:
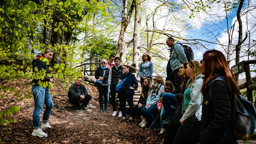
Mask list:
[[[141,108],[141,113],[142,113],[143,117],[145,117],[147,119],[147,121],[149,122],[149,125],[151,125],[154,122],[156,116],[158,115],[158,112],[159,112],[159,110],[157,109],[157,103],[154,105],[151,105],[147,109],[146,109],[146,105]],[[152,128],[153,129],[158,128],[157,121],[155,121],[153,123]]]

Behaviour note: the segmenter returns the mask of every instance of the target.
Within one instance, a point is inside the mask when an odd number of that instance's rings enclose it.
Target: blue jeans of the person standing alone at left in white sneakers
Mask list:
[[[43,113],[43,122],[48,122],[51,109],[53,109],[53,100],[49,93],[49,88],[43,88],[38,84],[32,85],[32,93],[34,95],[35,110],[33,114],[33,128],[40,127],[40,114],[43,111],[43,103],[45,103],[46,108]]]

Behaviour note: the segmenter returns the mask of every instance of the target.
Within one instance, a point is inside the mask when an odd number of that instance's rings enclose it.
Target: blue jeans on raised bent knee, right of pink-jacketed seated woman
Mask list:
[[[175,99],[175,94],[172,93],[162,93],[163,106],[165,107],[165,113],[167,117],[173,117],[172,107],[176,107],[177,102]]]

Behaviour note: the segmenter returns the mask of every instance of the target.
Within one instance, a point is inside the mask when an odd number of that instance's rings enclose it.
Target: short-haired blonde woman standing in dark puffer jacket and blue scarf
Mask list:
[[[105,73],[104,73],[105,72]],[[107,60],[103,59],[101,61],[101,67],[98,67],[95,72],[95,78],[99,81],[102,81],[101,85],[97,85],[99,90],[99,112],[102,113],[103,111],[103,94],[104,94],[104,106],[105,106],[105,112],[109,113],[109,110],[107,109],[107,103],[109,102],[109,68],[107,68]]]

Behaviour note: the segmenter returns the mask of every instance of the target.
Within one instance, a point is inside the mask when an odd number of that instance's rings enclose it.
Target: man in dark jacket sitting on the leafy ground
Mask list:
[[[86,111],[85,108],[91,100],[91,95],[88,94],[85,86],[82,85],[81,77],[78,77],[77,81],[70,86],[68,97],[69,101],[77,108],[77,111]]]

